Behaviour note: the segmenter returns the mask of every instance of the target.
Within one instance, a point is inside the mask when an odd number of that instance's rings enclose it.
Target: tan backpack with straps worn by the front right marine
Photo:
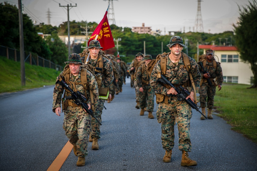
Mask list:
[[[167,70],[167,58],[165,57],[165,55],[168,55],[169,53],[162,53],[162,54],[159,54],[157,57],[156,57],[156,60],[152,63],[152,64],[156,64],[159,60],[160,61],[160,64],[161,64],[161,73],[158,73],[157,75],[157,78],[161,78],[161,75],[165,76],[166,75],[166,70]],[[189,72],[190,71],[190,68],[191,68],[191,64],[189,62],[189,58],[187,56],[187,54],[181,52],[182,54],[182,57],[183,57],[183,63],[184,63],[184,68],[186,68],[187,72],[188,72],[188,75],[190,77],[190,80],[188,80],[187,82],[185,82],[183,84],[184,87],[186,86],[189,86],[190,84],[192,84],[193,88],[194,88],[194,102],[195,104],[198,103],[198,100],[197,100],[197,97],[196,97],[196,88],[195,88],[195,83],[194,83],[194,79],[192,77],[192,74]],[[158,59],[157,59],[158,58]],[[159,59],[160,58],[160,59]],[[156,94],[156,102],[157,104],[159,104],[160,102],[163,101],[164,99],[164,96],[165,95],[162,95],[162,94]],[[168,103],[168,96],[165,96],[165,103]]]

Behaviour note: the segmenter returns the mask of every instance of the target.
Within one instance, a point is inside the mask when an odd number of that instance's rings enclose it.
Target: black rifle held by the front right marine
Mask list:
[[[189,104],[193,109],[195,109],[197,112],[199,112],[201,115],[203,115],[207,119],[207,117],[203,113],[200,112],[197,105],[190,98],[186,99],[190,93],[184,87],[179,86],[176,88],[163,75],[161,75],[161,78],[159,78],[157,81],[164,83],[164,84],[168,84],[169,86],[174,88],[176,90],[176,92],[178,93],[176,95],[177,99],[179,99],[180,101],[185,100],[187,102],[187,104]],[[167,96],[172,96],[172,94],[167,94]]]

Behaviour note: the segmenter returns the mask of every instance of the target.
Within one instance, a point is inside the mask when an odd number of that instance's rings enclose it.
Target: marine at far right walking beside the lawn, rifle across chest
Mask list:
[[[206,115],[205,107],[206,107],[206,99],[207,99],[207,108],[208,108],[208,119],[213,119],[212,116],[212,109],[214,104],[214,96],[216,93],[216,86],[218,86],[218,90],[221,90],[221,85],[223,82],[223,74],[221,65],[214,60],[213,58],[213,50],[206,51],[206,61],[204,61],[205,65],[204,70],[208,73],[204,74],[203,68],[201,68],[200,64],[198,63],[199,71],[201,73],[201,83],[200,83],[200,105],[202,108],[202,113]],[[216,63],[216,67],[214,66]],[[210,79],[212,86],[210,86],[207,82],[207,79]],[[216,85],[215,85],[216,81]],[[201,116],[201,120],[204,120],[204,116]]]

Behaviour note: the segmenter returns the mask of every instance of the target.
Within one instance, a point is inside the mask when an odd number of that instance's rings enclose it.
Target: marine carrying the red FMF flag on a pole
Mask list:
[[[101,50],[103,47],[100,46],[99,41],[91,40],[89,42],[89,46],[86,48],[88,48],[90,51],[90,58],[87,63],[92,65],[94,68],[99,67],[100,65],[99,63],[101,62],[100,58],[102,56],[103,58],[103,70],[101,71],[102,87],[109,88],[109,86],[113,82],[113,77],[114,77],[113,68],[109,60],[104,57],[105,54]],[[102,120],[101,115],[103,113],[104,102],[105,102],[104,99],[98,100],[98,104],[95,110],[95,116],[98,120]],[[95,118],[92,118],[91,126],[92,126],[92,129],[91,129],[90,136],[93,139],[92,149],[99,149],[98,139],[100,139],[100,124],[96,121]]]

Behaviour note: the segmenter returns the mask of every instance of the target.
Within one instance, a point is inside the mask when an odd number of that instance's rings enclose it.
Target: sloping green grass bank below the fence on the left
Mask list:
[[[0,56],[0,93],[54,85],[60,71],[25,63],[25,86],[21,86],[21,63]]]

